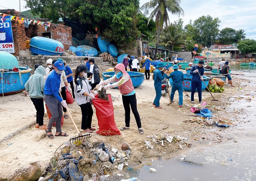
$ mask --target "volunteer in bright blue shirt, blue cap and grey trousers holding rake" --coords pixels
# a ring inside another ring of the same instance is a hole
[[[56,134],[55,136],[64,136],[67,137],[67,133],[61,131],[61,118],[62,118],[62,106],[67,108],[67,103],[59,96],[60,89],[60,77],[65,70],[64,64],[61,61],[56,61],[54,63],[54,71],[50,73],[45,82],[45,96],[44,100],[47,107],[52,114],[52,117],[49,120],[48,126],[45,130],[46,135],[49,138],[54,138],[52,135],[52,126],[55,122],[56,124]],[[61,106],[62,105],[62,106]]]

